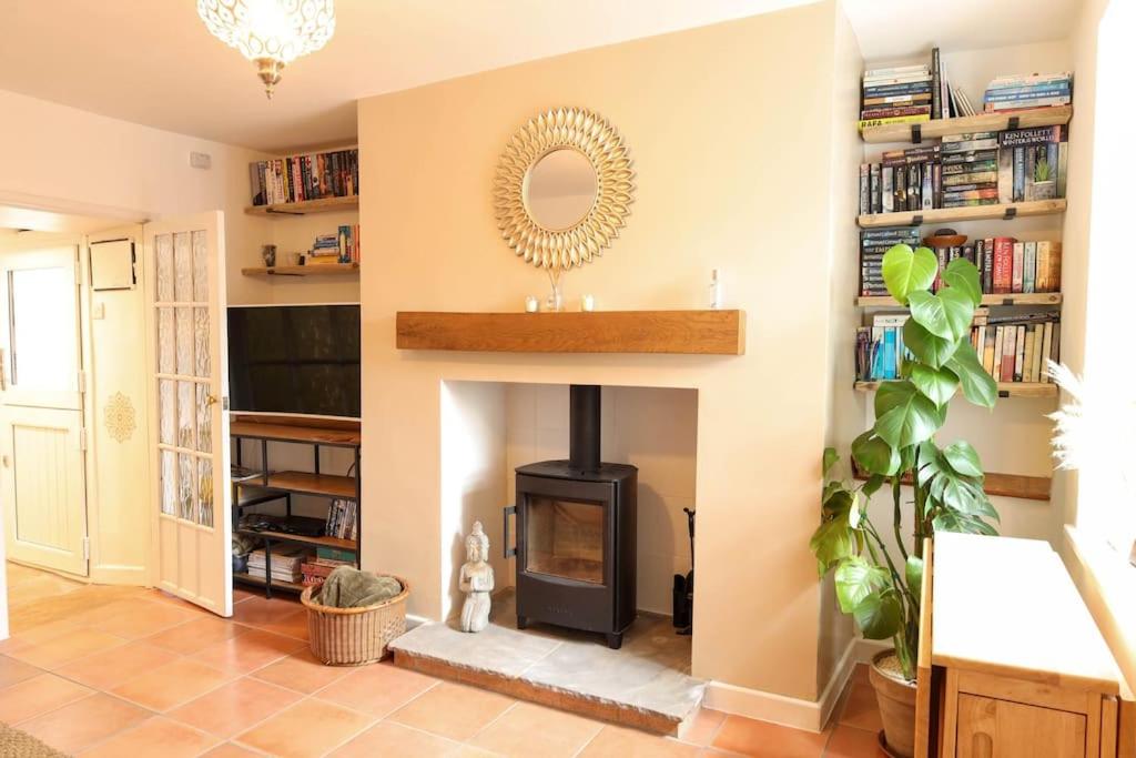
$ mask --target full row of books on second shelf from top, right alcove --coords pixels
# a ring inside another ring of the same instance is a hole
[[[1045,126],[888,150],[879,163],[860,165],[860,214],[1063,198],[1068,147],[1066,126]]]

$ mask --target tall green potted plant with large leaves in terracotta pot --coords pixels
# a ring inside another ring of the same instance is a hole
[[[857,485],[832,478],[838,456],[825,450],[820,526],[809,547],[820,575],[834,572],[841,610],[852,615],[863,636],[894,644],[875,657],[870,678],[888,749],[911,756],[924,539],[936,530],[996,534],[991,522],[997,520],[983,489],[978,453],[963,441],[941,448],[935,434],[957,393],[993,408],[997,385],[970,344],[982,302],[974,264],[951,261],[932,293],[935,253],[899,244],[884,256],[883,273],[888,292],[911,311],[903,326],[910,355],[901,378],[876,392],[871,428],[852,442],[852,458],[867,480]],[[893,506],[893,545],[868,515],[869,499],[885,488]]]

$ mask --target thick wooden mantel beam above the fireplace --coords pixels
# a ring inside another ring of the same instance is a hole
[[[395,344],[400,350],[741,356],[745,353],[745,311],[399,311]]]

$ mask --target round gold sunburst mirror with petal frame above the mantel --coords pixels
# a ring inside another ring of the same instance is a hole
[[[518,256],[561,272],[602,255],[624,226],[635,190],[619,133],[584,108],[544,111],[501,155],[493,205],[501,235]]]

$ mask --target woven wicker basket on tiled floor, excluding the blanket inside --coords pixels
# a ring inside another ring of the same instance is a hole
[[[311,599],[319,588],[306,589],[300,602],[308,609],[312,655],[328,666],[362,666],[382,660],[387,643],[407,631],[410,585],[401,576],[394,578],[402,585],[402,592],[364,608],[321,606]]]

